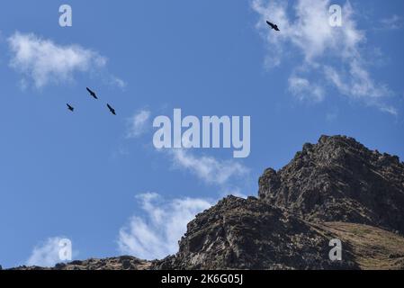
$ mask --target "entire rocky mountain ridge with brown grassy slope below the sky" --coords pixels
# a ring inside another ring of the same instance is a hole
[[[399,157],[352,138],[322,136],[279,171],[266,169],[258,196],[229,196],[197,215],[174,256],[90,259],[53,269],[404,269]],[[342,261],[329,260],[333,238],[342,242]]]

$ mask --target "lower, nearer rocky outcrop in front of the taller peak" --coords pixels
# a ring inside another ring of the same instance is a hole
[[[353,253],[333,263],[332,237],[256,198],[229,196],[188,224],[180,251],[160,269],[352,269]]]

